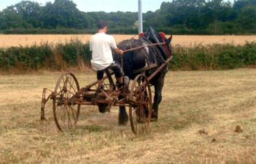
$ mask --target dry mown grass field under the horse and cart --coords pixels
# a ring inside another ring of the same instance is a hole
[[[144,136],[119,127],[117,109],[94,107],[60,134],[51,102],[40,130],[42,87],[59,74],[0,77],[0,163],[256,163],[256,69],[168,73],[160,120]],[[76,75],[82,86],[95,78]]]

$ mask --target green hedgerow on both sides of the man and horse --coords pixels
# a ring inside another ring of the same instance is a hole
[[[171,70],[221,70],[256,66],[256,44],[244,46],[214,44],[196,47],[173,47]],[[41,44],[0,48],[1,71],[59,71],[89,64],[89,45],[78,40],[66,44]]]

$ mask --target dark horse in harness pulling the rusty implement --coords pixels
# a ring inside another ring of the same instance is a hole
[[[128,51],[122,56],[113,53],[114,62],[121,64],[123,74],[131,80],[134,80],[140,73],[144,73],[148,77],[159,66],[164,64],[167,58],[172,56],[171,39],[172,37],[167,39],[164,33],[157,33],[150,27],[146,33],[139,35],[139,39],[127,39],[117,45],[123,51],[138,46],[144,46],[143,48]],[[151,46],[151,44],[157,43],[164,44]],[[162,88],[167,71],[168,66],[165,66],[162,71],[150,80],[150,84],[155,88],[152,115],[154,120],[158,118],[158,107],[162,101]],[[126,113],[126,107],[119,107],[119,125],[126,125],[127,122],[128,114]]]

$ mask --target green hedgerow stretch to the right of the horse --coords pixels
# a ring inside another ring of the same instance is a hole
[[[256,44],[244,46],[214,44],[173,48],[173,60],[169,66],[175,70],[237,69],[256,65]]]

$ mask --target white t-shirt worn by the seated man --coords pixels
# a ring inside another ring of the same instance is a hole
[[[101,71],[113,62],[111,48],[117,48],[114,37],[105,33],[96,33],[89,39],[89,50],[92,51],[92,68]]]

